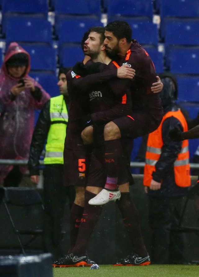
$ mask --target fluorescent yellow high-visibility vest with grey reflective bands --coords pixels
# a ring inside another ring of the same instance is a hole
[[[68,122],[68,112],[63,95],[50,99],[50,120],[44,164],[63,164],[63,149]]]

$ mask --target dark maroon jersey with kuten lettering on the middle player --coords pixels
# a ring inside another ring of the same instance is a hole
[[[92,66],[90,63],[88,66]],[[119,66],[111,61],[108,65],[101,63],[99,70],[114,72]],[[90,79],[87,86],[87,80]],[[85,82],[86,81],[86,82]],[[88,95],[92,120],[98,118],[98,122],[107,123],[117,117],[127,115],[131,112],[131,92],[129,80],[112,77],[111,80],[98,80],[94,82],[93,75],[87,77],[78,76],[73,81],[73,87],[79,94]],[[101,113],[102,112],[102,113]]]

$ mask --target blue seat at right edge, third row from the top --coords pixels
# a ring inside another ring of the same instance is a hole
[[[172,73],[199,74],[199,47],[174,47],[166,56]]]

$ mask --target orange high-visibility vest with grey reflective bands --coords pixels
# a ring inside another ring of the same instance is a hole
[[[181,110],[169,111],[163,116],[162,122],[158,129],[149,134],[146,149],[146,161],[144,167],[144,185],[150,186],[152,180],[152,173],[155,171],[155,164],[160,158],[162,152],[162,124],[168,117],[176,117],[183,126],[183,131],[188,130],[187,121],[185,120]],[[189,143],[188,140],[183,140],[182,149],[174,162],[174,176],[175,183],[180,187],[187,187],[191,185],[190,165],[189,165]]]

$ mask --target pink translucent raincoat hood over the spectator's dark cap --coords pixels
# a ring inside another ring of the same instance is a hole
[[[4,74],[6,76],[8,76],[9,78],[13,79],[13,80],[19,80],[20,78],[15,78],[13,76],[10,76],[7,72],[7,67],[6,67],[6,62],[7,60],[9,60],[13,55],[15,54],[19,54],[19,53],[25,53],[28,56],[28,66],[26,67],[25,70],[25,74],[23,77],[25,77],[25,75],[27,75],[30,71],[30,54],[28,52],[25,51],[25,49],[23,49],[18,43],[16,42],[12,42],[9,46],[8,49],[5,53],[5,58],[2,64],[2,70],[4,72]]]

